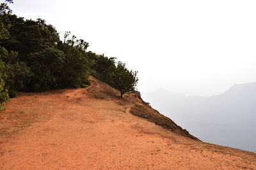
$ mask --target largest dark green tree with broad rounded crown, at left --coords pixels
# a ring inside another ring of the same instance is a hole
[[[2,45],[9,52],[19,52],[19,62],[26,64],[32,73],[19,90],[42,92],[59,88],[65,56],[58,49],[60,37],[56,29],[45,20],[24,20],[16,15],[8,15],[4,22],[12,27],[10,38]]]

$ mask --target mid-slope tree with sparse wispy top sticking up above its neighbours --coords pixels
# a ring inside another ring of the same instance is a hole
[[[76,39],[74,35],[70,38],[70,32],[65,32],[64,43],[59,43],[58,46],[65,54],[60,76],[61,88],[87,87],[90,85],[86,53],[89,44],[83,39]]]

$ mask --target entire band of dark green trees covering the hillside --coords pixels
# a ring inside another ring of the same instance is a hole
[[[64,41],[45,20],[26,20],[0,6],[0,103],[22,92],[87,87],[88,76],[116,87],[121,96],[133,90],[137,72],[115,58],[86,52],[89,44],[66,32]],[[1,105],[2,106],[2,105]]]

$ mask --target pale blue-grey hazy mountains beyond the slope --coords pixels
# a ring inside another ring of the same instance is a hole
[[[212,97],[161,89],[142,98],[202,141],[256,152],[256,83],[237,84]]]

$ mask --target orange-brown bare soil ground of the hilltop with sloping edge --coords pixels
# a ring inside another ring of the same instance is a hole
[[[198,141],[135,94],[118,95],[92,78],[13,98],[0,112],[0,169],[256,169],[256,153]]]

